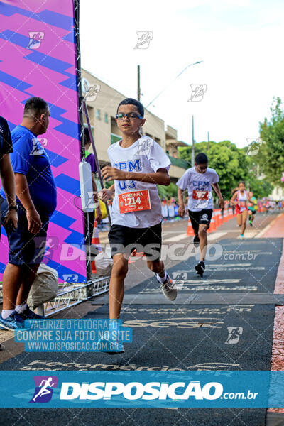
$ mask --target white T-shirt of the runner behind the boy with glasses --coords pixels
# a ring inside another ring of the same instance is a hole
[[[205,173],[197,173],[195,167],[188,169],[178,180],[181,190],[188,191],[188,209],[200,212],[203,209],[213,209],[212,183],[219,182],[216,170],[207,168]]]

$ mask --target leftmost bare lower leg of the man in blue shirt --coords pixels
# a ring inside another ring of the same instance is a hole
[[[15,309],[18,290],[23,279],[23,266],[8,263],[3,274],[3,309]]]

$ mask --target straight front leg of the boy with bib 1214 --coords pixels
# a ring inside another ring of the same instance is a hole
[[[114,265],[111,269],[109,282],[109,318],[119,318],[122,300],[124,299],[124,279],[128,271],[128,259],[123,253],[114,255]]]

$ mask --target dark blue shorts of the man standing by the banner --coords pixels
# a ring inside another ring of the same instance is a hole
[[[4,217],[8,209],[6,200],[1,204],[1,217]],[[28,231],[26,210],[18,206],[18,227],[14,231],[4,226],[9,241],[9,263],[17,266],[37,265],[43,260],[45,254],[46,232],[48,231],[49,217],[40,214],[43,227],[38,234]]]

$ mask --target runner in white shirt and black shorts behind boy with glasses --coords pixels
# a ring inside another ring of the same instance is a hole
[[[205,269],[205,256],[207,250],[207,229],[209,229],[213,212],[212,190],[219,198],[219,207],[224,209],[224,200],[219,188],[219,176],[217,172],[208,168],[207,155],[200,153],[195,157],[195,167],[192,167],[178,180],[178,201],[180,207],[178,214],[183,217],[185,214],[185,204],[182,193],[188,191],[188,214],[192,224],[195,237],[195,246],[200,244],[200,261],[195,266],[196,273],[203,276]]]

